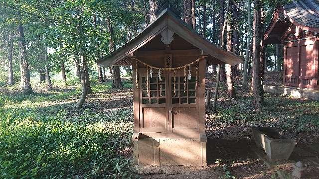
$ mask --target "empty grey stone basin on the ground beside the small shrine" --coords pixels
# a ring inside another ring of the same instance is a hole
[[[252,127],[256,145],[265,150],[271,160],[288,160],[296,140],[282,135],[274,127]]]

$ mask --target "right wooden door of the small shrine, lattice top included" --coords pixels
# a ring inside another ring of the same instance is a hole
[[[172,133],[188,136],[187,133],[199,132],[198,115],[198,91],[196,87],[196,68],[191,69],[191,79],[188,80],[188,69],[186,70],[186,81],[184,70],[169,73],[169,121]],[[175,81],[175,83],[174,83]],[[175,88],[174,88],[175,84]],[[185,86],[186,84],[186,86]]]

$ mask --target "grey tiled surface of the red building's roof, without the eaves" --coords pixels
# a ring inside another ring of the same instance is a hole
[[[319,28],[319,0],[293,0],[284,10],[293,23]]]

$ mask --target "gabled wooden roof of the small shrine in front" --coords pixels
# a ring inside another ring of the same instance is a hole
[[[211,56],[209,59],[217,59],[222,63],[237,65],[241,59],[234,54],[210,43],[207,39],[198,34],[188,24],[182,21],[170,8],[164,9],[160,15],[149,26],[147,26],[134,39],[130,40],[121,48],[111,54],[97,60],[101,66],[110,65],[130,65],[130,57],[135,51],[154,39],[163,30],[169,29],[190,44],[202,50],[206,55]]]

